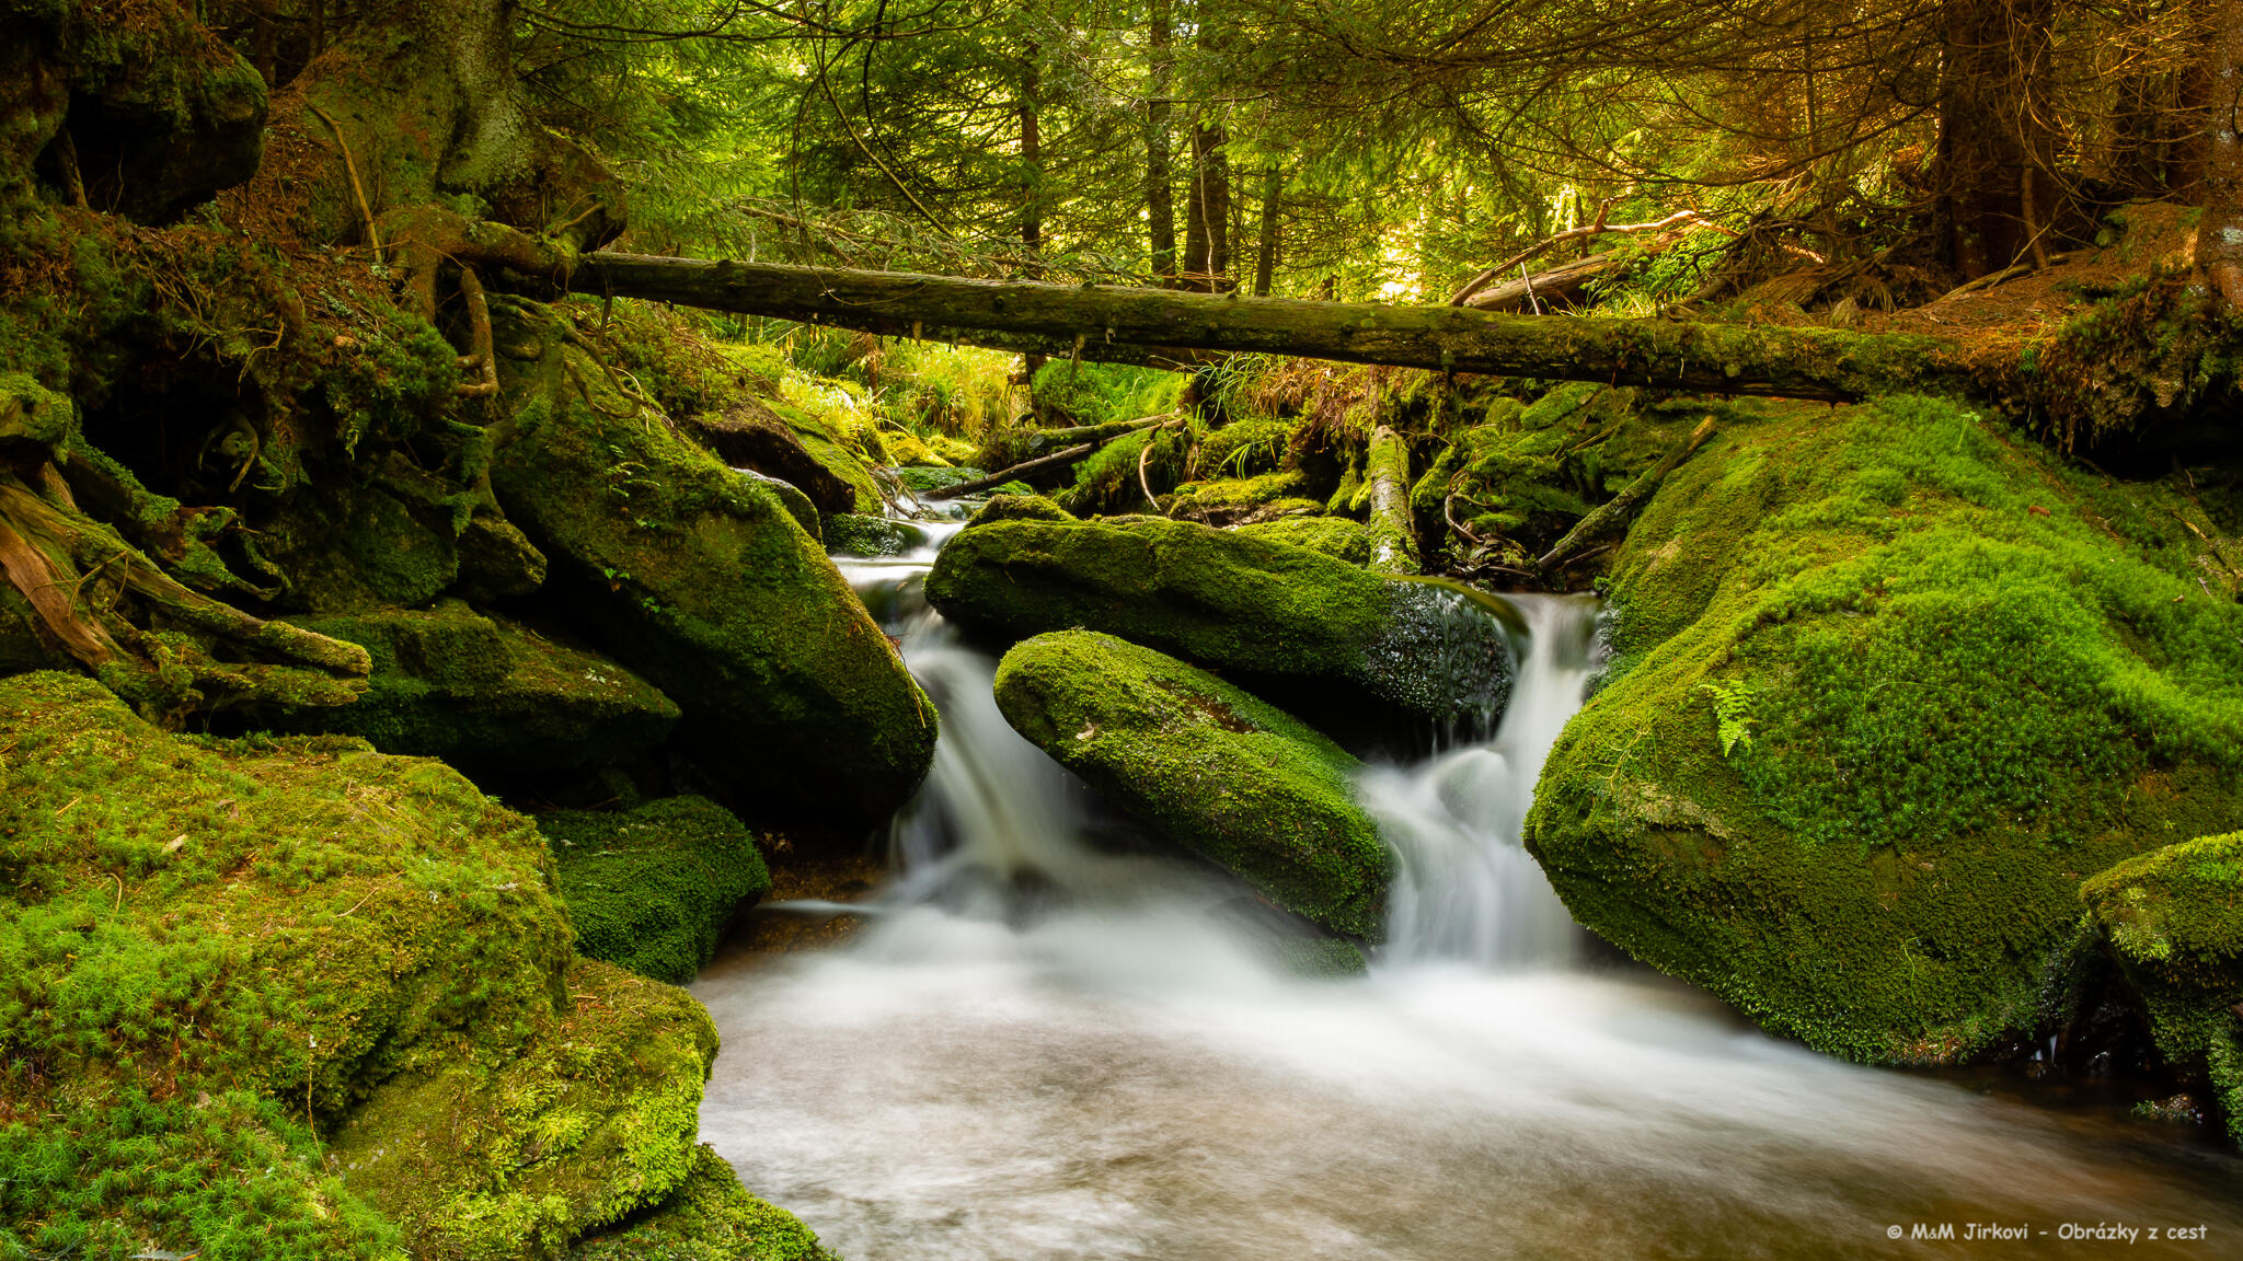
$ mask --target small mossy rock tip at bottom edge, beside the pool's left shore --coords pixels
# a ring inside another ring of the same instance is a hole
[[[693,1171],[664,1205],[612,1234],[594,1234],[570,1261],[837,1261],[787,1209],[740,1187],[713,1147],[695,1149]]]

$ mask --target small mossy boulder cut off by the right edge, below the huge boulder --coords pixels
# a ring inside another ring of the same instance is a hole
[[[2079,886],[2167,1066],[2243,1144],[2243,832],[2131,857]]]

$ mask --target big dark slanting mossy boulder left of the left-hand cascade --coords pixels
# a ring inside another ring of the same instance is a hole
[[[509,341],[552,332],[505,323]],[[550,586],[565,574],[572,622],[677,698],[677,738],[758,821],[884,821],[926,774],[935,711],[848,579],[776,494],[628,417],[590,361],[576,375],[606,411],[579,406],[563,355],[583,352],[543,346],[507,361],[520,411],[491,487],[552,556]]]

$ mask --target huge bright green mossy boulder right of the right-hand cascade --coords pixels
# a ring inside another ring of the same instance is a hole
[[[1819,1050],[2034,1037],[2079,882],[2243,823],[2216,534],[1951,404],[1736,411],[1615,556],[1527,848],[1577,920]]]

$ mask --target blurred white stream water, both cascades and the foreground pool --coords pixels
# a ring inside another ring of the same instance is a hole
[[[2243,1162],[2185,1133],[1839,1064],[1584,963],[1519,848],[1593,669],[1584,601],[1516,601],[1532,633],[1489,740],[1366,774],[1402,857],[1395,940],[1370,976],[1312,981],[1227,911],[1236,886],[1108,844],[1088,792],[998,716],[994,662],[911,608],[931,554],[850,565],[890,588],[942,709],[895,886],[846,949],[720,958],[695,985],[724,1039],[702,1138],[843,1257],[2243,1248]],[[2140,1234],[2066,1239],[2113,1225]],[[2162,1239],[2198,1225],[2203,1243]]]

